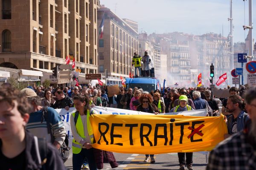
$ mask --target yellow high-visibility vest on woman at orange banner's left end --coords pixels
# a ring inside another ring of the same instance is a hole
[[[72,113],[72,116],[75,117],[75,114],[76,113]],[[90,124],[89,117],[90,117],[90,111],[87,110],[87,130],[88,130],[88,134],[90,136],[90,140],[93,143],[93,139],[94,139],[93,128],[92,128],[92,125]],[[78,118],[77,118],[77,122],[76,122],[76,130],[77,130],[77,133],[79,134],[79,136],[81,136],[82,138],[85,139],[84,126],[83,126],[80,114],[78,114]],[[82,145],[79,142],[77,142],[75,139],[73,139],[73,141],[72,141],[72,151],[73,151],[73,153],[78,154],[78,153],[81,152]]]

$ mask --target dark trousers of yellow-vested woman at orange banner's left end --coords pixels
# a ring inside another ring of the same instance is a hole
[[[87,159],[90,170],[98,170],[96,162],[94,159],[93,148],[85,149],[82,148],[81,152],[78,154],[73,153],[73,170],[81,170],[81,166],[84,163],[84,160]]]

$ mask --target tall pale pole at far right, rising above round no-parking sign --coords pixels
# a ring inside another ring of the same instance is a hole
[[[253,56],[253,1],[249,0],[249,56]],[[252,58],[253,60],[253,58]]]

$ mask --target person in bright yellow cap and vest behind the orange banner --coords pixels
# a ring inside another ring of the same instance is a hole
[[[179,105],[172,108],[170,112],[179,112],[179,111],[191,111],[193,108],[188,105],[188,97],[186,95],[180,95],[179,97]],[[186,153],[178,153],[179,163],[180,163],[180,170],[185,170],[185,154],[186,154],[186,164],[189,170],[192,169],[193,163],[193,153],[186,152]]]

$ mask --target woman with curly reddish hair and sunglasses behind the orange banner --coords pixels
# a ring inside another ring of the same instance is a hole
[[[157,106],[155,106],[152,103],[153,99],[150,94],[140,95],[139,102],[140,102],[140,105],[137,107],[137,111],[146,112],[146,113],[154,113],[154,114],[160,113],[157,109]],[[145,156],[146,157],[144,159],[144,162],[148,162],[149,155],[146,154]],[[151,164],[155,163],[154,154],[150,154],[150,163]]]

